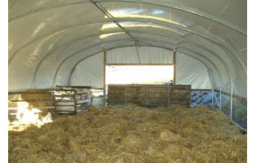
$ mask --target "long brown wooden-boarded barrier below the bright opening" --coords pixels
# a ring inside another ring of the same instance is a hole
[[[149,86],[149,87],[148,87]],[[189,85],[109,85],[108,104],[136,103],[139,105],[190,105]],[[113,91],[114,90],[114,91]],[[169,92],[170,91],[170,92]]]

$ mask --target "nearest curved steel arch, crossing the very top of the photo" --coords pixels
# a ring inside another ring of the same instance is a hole
[[[32,15],[32,14],[40,12],[40,11],[46,11],[46,10],[49,10],[49,9],[52,9],[52,8],[56,8],[56,7],[60,7],[60,6],[69,6],[69,5],[76,5],[76,4],[88,3],[88,2],[90,2],[90,1],[65,2],[65,3],[62,3],[62,4],[53,5],[53,6],[46,6],[46,7],[37,9],[35,11],[28,11],[27,13],[25,13],[23,15],[16,16],[13,19],[9,19],[8,22],[11,23],[11,22],[13,22],[16,19],[20,19],[20,18],[23,18],[23,17],[28,16],[28,15]],[[229,24],[228,22],[225,22],[225,21],[223,21],[221,19],[216,19],[214,16],[206,15],[205,13],[198,12],[198,11],[195,11],[195,10],[191,10],[191,9],[189,9],[187,7],[176,6],[176,5],[171,5],[171,4],[167,5],[167,4],[164,4],[164,3],[161,3],[161,2],[148,2],[148,1],[139,1],[139,0],[122,0],[122,1],[121,0],[105,0],[105,1],[104,0],[96,0],[96,1],[93,1],[93,2],[140,2],[140,3],[155,5],[155,6],[170,7],[170,8],[179,10],[179,11],[188,12],[188,13],[193,14],[193,15],[198,15],[198,16],[201,16],[203,18],[210,19],[211,21],[214,21],[216,23],[222,24],[222,25],[224,25],[224,26],[226,26],[228,28],[232,28],[232,30],[235,30],[236,32],[241,32],[243,35],[247,36],[247,32],[245,32],[241,28],[238,28],[238,27],[236,27],[236,26],[234,26],[232,24]]]

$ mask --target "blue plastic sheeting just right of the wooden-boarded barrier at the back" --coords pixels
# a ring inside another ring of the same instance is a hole
[[[222,94],[221,103],[223,104],[227,101],[228,96]],[[213,101],[213,103],[212,103]],[[212,105],[213,108],[219,108],[220,103],[220,93],[219,92],[211,92],[211,91],[193,91],[191,93],[191,108],[197,107],[197,105]]]

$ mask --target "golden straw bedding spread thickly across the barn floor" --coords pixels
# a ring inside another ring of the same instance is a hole
[[[246,162],[246,135],[205,106],[90,108],[9,132],[9,162]]]

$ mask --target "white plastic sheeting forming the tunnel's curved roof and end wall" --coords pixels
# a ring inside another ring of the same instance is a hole
[[[137,45],[145,63],[168,62],[176,49],[177,84],[247,97],[246,7],[244,0],[9,0],[9,91],[102,87],[102,52],[138,62]]]

